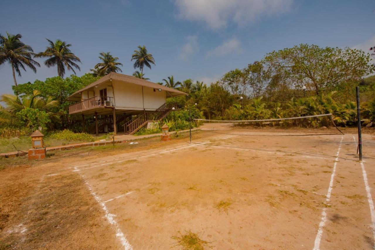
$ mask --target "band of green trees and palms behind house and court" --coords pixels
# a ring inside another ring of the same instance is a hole
[[[73,72],[74,67],[80,69],[74,63],[80,60],[70,51],[70,44],[48,40],[46,51],[34,54],[20,39],[19,34],[0,35],[0,64],[9,62],[19,73],[19,69],[25,69],[24,65],[33,70],[39,66],[32,57],[46,57],[45,65],[57,66],[58,76],[34,83],[17,85],[15,82],[12,87],[15,95],[0,97],[0,101],[6,103],[5,107],[0,106],[1,127],[27,126],[33,130],[42,124],[47,129],[61,129],[70,120],[68,106],[71,102],[66,102],[66,97],[101,76],[121,72],[119,59],[110,52],[101,52],[101,62],[92,73],[63,78],[65,68]],[[16,52],[20,55],[13,57]],[[375,70],[370,56],[357,49],[301,44],[272,51],[243,69],[230,70],[216,82],[177,81],[171,75],[157,83],[188,93],[188,96],[168,101],[197,109],[207,119],[257,120],[334,113],[336,124],[343,126],[356,119],[353,111],[355,87],[359,85],[365,124],[374,126],[375,81],[374,77],[364,78]],[[143,69],[144,66],[151,69],[151,64],[155,64],[152,54],[145,46],[138,46],[131,60],[134,68],[140,70],[133,76],[147,80]],[[308,125],[319,126],[312,121]]]

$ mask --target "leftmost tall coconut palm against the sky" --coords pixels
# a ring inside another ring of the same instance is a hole
[[[34,55],[33,49],[21,42],[21,34],[12,35],[6,33],[6,36],[0,34],[0,65],[6,61],[12,67],[14,85],[17,86],[15,72],[21,76],[21,70],[25,69],[25,65],[36,73],[36,67],[40,67],[37,61],[32,59]]]

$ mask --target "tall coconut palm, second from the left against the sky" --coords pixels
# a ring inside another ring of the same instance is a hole
[[[45,57],[48,58],[44,61],[44,65],[47,67],[52,67],[57,65],[57,74],[61,78],[64,78],[65,67],[68,70],[72,70],[75,73],[73,67],[81,71],[80,66],[75,62],[81,62],[75,54],[69,49],[71,44],[67,44],[60,39],[57,39],[55,42],[48,40],[49,46],[44,52],[36,54],[34,57]]]

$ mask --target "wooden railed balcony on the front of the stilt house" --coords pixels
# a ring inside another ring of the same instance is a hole
[[[104,111],[107,107],[113,106],[113,97],[94,96],[81,102],[69,105],[69,114],[92,114]]]

